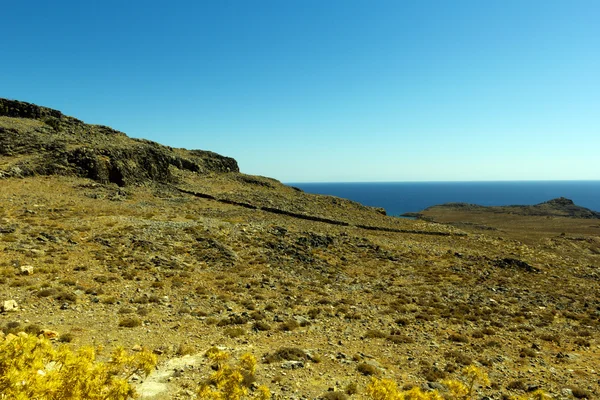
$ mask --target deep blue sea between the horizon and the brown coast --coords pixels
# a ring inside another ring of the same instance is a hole
[[[288,183],[308,193],[328,194],[383,207],[388,215],[436,204],[532,205],[566,197],[600,211],[600,181]]]

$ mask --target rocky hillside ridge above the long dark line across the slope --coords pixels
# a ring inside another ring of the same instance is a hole
[[[380,208],[307,194],[272,178],[242,174],[231,157],[130,138],[58,110],[2,98],[0,156],[0,178],[58,175],[123,188],[159,186],[161,190],[339,226],[408,234],[464,234],[435,226],[407,228],[401,221],[387,218]],[[340,218],[345,214],[350,217]]]

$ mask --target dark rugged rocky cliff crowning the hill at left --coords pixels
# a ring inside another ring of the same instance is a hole
[[[119,186],[174,182],[178,170],[239,171],[230,157],[129,138],[57,110],[2,98],[0,156],[0,177],[77,175]]]

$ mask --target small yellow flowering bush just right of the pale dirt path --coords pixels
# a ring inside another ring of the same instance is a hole
[[[206,353],[213,362],[215,372],[200,386],[198,397],[208,400],[240,400],[248,396],[248,385],[254,381],[256,358],[244,354],[236,365],[228,365],[229,354],[217,349]],[[268,400],[271,392],[266,386],[259,386],[252,398]]]

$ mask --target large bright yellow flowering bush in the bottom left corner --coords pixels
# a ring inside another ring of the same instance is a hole
[[[0,398],[125,400],[135,395],[128,379],[148,375],[156,362],[149,351],[129,355],[122,348],[99,362],[92,347],[56,349],[45,338],[21,332],[0,342]]]

